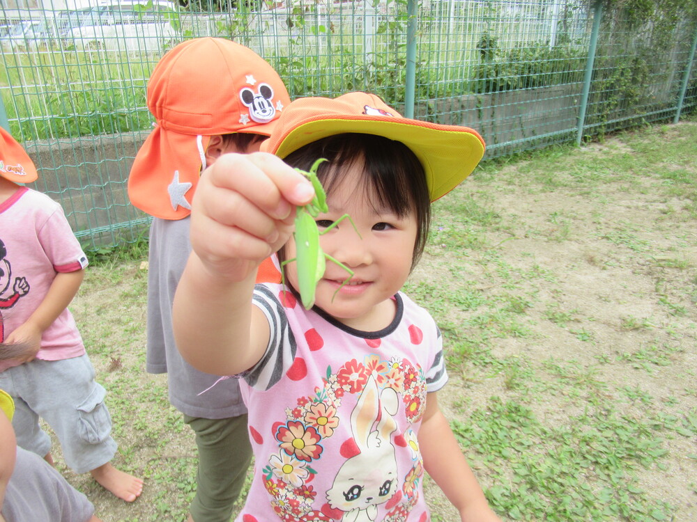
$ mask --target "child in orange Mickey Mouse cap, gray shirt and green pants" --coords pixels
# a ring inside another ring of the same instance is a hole
[[[171,49],[155,66],[147,102],[155,129],[128,179],[131,202],[154,218],[146,370],[167,372],[169,400],[196,434],[197,492],[190,520],[227,522],[252,457],[247,409],[236,379],[200,372],[183,360],[172,333],[171,303],[191,251],[189,214],[201,171],[226,152],[259,150],[290,99],[275,70],[251,49],[222,38],[196,38]],[[262,277],[280,279],[273,263],[263,268]]]

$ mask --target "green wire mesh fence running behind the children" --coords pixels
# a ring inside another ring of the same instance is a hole
[[[0,125],[24,142],[40,168],[35,187],[62,203],[88,249],[146,229],[125,189],[152,125],[145,86],[188,38],[251,47],[291,97],[368,90],[406,116],[473,127],[489,158],[697,107],[690,2],[229,0],[223,12],[194,12],[167,0],[92,1],[0,9]]]

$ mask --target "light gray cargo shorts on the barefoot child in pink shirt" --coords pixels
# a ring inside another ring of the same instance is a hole
[[[94,380],[87,355],[63,361],[40,361],[0,372],[0,388],[15,400],[12,425],[17,445],[44,457],[51,438],[43,418],[58,436],[66,464],[86,473],[111,461],[116,442],[109,435],[112,418],[104,404],[106,390]]]

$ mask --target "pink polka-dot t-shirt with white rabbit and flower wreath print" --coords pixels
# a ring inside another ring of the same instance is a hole
[[[418,432],[447,381],[434,320],[399,293],[390,326],[357,331],[281,292],[254,290],[270,343],[240,376],[255,464],[236,521],[430,520]]]

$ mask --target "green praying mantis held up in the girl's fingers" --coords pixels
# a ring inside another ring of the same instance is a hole
[[[337,221],[334,221],[334,223],[321,232],[319,231],[319,228],[317,228],[315,218],[320,214],[320,212],[328,212],[329,210],[327,206],[327,194],[325,193],[321,182],[317,178],[317,168],[322,161],[327,160],[324,158],[318,159],[314,162],[314,164],[312,164],[312,168],[310,168],[309,172],[296,168],[296,171],[307,177],[307,179],[312,182],[312,187],[314,187],[314,198],[312,198],[312,201],[310,201],[307,205],[297,208],[295,221],[296,230],[293,232],[293,237],[296,239],[296,257],[282,262],[282,268],[290,262],[296,262],[296,269],[298,271],[298,286],[300,287],[298,288],[298,291],[300,292],[300,299],[302,301],[302,306],[305,307],[305,310],[309,310],[312,308],[312,306],[314,306],[314,292],[316,290],[317,283],[319,283],[319,280],[324,275],[324,270],[326,267],[325,260],[334,262],[339,267],[346,270],[346,273],[348,274],[346,280],[344,280],[342,285],[337,288],[336,292],[334,292],[334,296],[336,296],[337,292],[339,292],[339,290],[341,290],[353,277],[353,270],[346,267],[346,265],[342,262],[332,258],[331,255],[322,250],[322,247],[319,246],[319,237],[332,230],[332,228],[344,221],[344,219],[351,221],[353,230],[355,230],[355,233],[358,234],[358,237],[360,237],[358,228],[355,227],[353,219],[351,219],[351,216],[348,214],[344,214],[337,219]],[[283,269],[281,270],[281,274],[283,283],[285,284],[286,281]]]

